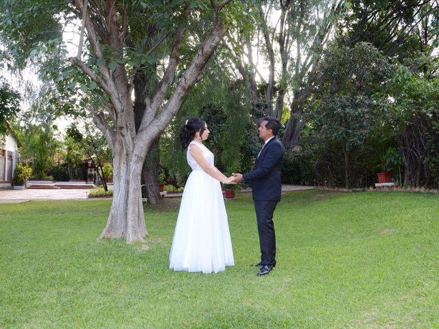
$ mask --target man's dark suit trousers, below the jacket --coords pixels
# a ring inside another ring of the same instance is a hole
[[[276,235],[274,234],[273,223],[273,213],[276,204],[277,201],[254,200],[262,265],[276,265]]]

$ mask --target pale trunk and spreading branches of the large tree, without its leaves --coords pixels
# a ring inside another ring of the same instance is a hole
[[[103,51],[105,47],[110,49],[112,56],[124,57],[123,49],[130,39],[126,10],[128,4],[123,6],[123,12],[117,12],[117,1],[91,2],[91,8],[97,9],[95,12],[99,13],[99,17],[95,19],[93,16],[92,19],[88,14],[84,25],[87,30],[86,36],[94,57],[104,62],[98,73],[82,61],[81,51],[78,51],[78,56],[69,58],[69,62],[78,66],[108,95],[108,99],[102,97],[102,103],[99,103],[98,108],[88,109],[88,112],[93,113],[93,121],[104,134],[114,156],[113,199],[101,239],[124,238],[128,243],[132,243],[143,241],[147,235],[141,198],[141,173],[145,157],[154,140],[174,118],[189,90],[202,79],[204,67],[227,30],[227,26],[220,20],[220,11],[230,0],[223,0],[221,3],[210,2],[213,10],[211,32],[185,69],[179,71],[176,77],[180,46],[186,40],[187,25],[184,22],[176,27],[174,36],[168,38],[171,49],[167,67],[161,72],[160,82],[153,88],[154,92],[141,95],[145,109],[137,119],[136,116],[140,112],[136,114],[137,111],[133,109],[132,90],[135,84],[130,82],[131,72],[127,71],[125,62],[116,61],[108,64],[104,60]],[[73,3],[79,12],[88,8],[82,0],[75,0]],[[104,5],[104,8],[99,5]],[[190,12],[189,8],[180,13],[182,21]],[[141,48],[138,49],[139,55],[145,55],[145,49]],[[150,51],[154,51],[154,47]],[[172,90],[171,86],[174,86]]]

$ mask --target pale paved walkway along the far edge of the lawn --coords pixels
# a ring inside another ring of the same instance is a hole
[[[300,186],[300,185],[282,185],[282,191],[304,191],[313,189],[314,186]],[[246,188],[241,192],[250,192],[250,188]],[[26,202],[30,200],[84,200],[88,198],[89,190],[80,188],[72,189],[56,189],[56,190],[40,190],[40,189],[25,189],[25,190],[0,190],[0,203],[14,203]],[[173,193],[169,197],[178,197],[182,193]]]

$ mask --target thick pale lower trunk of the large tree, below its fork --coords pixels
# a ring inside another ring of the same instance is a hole
[[[143,158],[133,147],[123,152],[119,143],[113,160],[114,191],[106,228],[99,239],[126,239],[128,243],[143,241],[147,236],[141,198]]]

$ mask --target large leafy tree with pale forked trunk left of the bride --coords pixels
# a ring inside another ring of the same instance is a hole
[[[115,191],[101,238],[124,238],[131,243],[147,235],[141,200],[145,156],[202,78],[230,17],[239,12],[239,8],[224,12],[229,2],[21,0],[5,1],[1,8],[1,34],[8,47],[19,49],[23,56],[26,49],[32,55],[45,51],[43,59],[56,55],[43,74],[54,77],[58,88],[63,80],[64,86],[65,81],[73,88],[80,84],[80,106],[93,116],[112,148]],[[81,24],[78,53],[64,59],[60,39],[47,38],[44,31],[55,31],[56,36],[57,24],[72,19]],[[204,30],[195,33],[199,22]],[[29,49],[29,43],[38,40],[44,44]],[[60,71],[66,59],[71,66]],[[145,106],[136,129],[133,80],[151,65],[158,69],[147,78],[158,83],[143,95]]]

